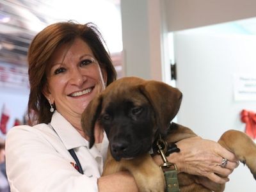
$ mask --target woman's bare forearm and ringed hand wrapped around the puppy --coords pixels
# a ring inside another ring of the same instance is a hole
[[[177,165],[178,172],[186,172],[193,175],[205,176],[216,183],[228,181],[228,175],[238,166],[237,159],[228,150],[221,147],[219,143],[193,137],[181,140],[177,143],[179,153],[170,154],[168,161]],[[226,168],[221,168],[222,158],[228,159]],[[154,161],[163,164],[161,156],[154,156]],[[218,176],[216,173],[225,176]],[[211,184],[211,181],[205,182]],[[98,179],[100,192],[104,191],[138,191],[136,182],[129,172],[118,172]]]

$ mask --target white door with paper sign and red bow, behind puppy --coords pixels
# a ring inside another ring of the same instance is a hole
[[[244,131],[239,113],[256,113],[256,102],[234,99],[234,74],[256,77],[256,37],[180,32],[173,39],[176,84],[184,94],[177,121],[211,140],[227,129]],[[256,181],[242,163],[225,191],[256,191]]]

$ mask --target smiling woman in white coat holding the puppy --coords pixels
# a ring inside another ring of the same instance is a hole
[[[28,65],[29,125],[14,127],[6,139],[12,191],[138,191],[127,172],[100,177],[108,147],[106,134],[95,127],[97,144],[89,149],[81,128],[84,108],[116,79],[97,28],[74,22],[48,26],[31,42]],[[177,145],[181,152],[168,159],[179,172],[224,183],[237,166],[236,157],[213,141],[192,138]],[[228,159],[225,168],[220,166],[223,158]],[[159,156],[155,161],[162,163]]]

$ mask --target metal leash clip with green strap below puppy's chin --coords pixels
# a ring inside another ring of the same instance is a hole
[[[179,189],[179,182],[177,177],[177,166],[175,163],[170,163],[165,153],[167,151],[168,143],[162,140],[161,137],[157,141],[157,152],[161,155],[164,163],[160,165],[161,170],[164,172],[164,178],[166,182],[166,192],[178,192]]]

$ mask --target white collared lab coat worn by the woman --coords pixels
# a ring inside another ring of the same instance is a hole
[[[54,128],[54,131],[52,127]],[[51,125],[13,127],[6,137],[6,172],[12,192],[98,191],[108,139],[104,133],[101,149],[89,149],[88,141],[57,111]],[[74,148],[83,168],[72,166],[68,149]]]

